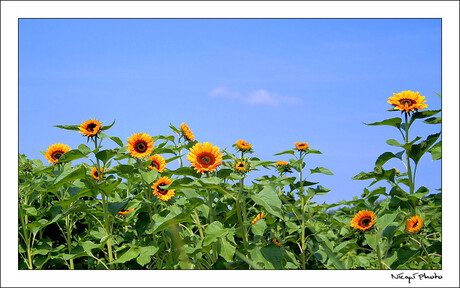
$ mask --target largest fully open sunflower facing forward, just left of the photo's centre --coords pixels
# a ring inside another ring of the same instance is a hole
[[[187,160],[198,173],[205,173],[212,172],[222,165],[222,155],[223,153],[219,153],[219,147],[213,147],[211,143],[196,143],[190,149]]]

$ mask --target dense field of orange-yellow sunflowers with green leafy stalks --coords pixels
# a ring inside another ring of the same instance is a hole
[[[83,141],[50,145],[48,165],[19,155],[18,268],[441,269],[441,189],[415,182],[423,156],[441,159],[441,133],[410,134],[415,122],[441,124],[441,110],[412,91],[388,103],[398,115],[366,125],[393,126],[400,140],[387,143],[400,152],[353,177],[373,180],[361,197],[333,204],[315,202],[330,190],[313,174],[334,176],[307,167],[321,152],[306,142],[261,160],[244,140],[231,151],[198,142],[185,123],[126,143],[109,136],[115,122],[56,125]],[[385,169],[390,160],[406,171]],[[270,173],[245,181],[257,169]]]

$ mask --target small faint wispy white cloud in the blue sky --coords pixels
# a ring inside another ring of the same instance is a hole
[[[259,89],[243,94],[239,91],[232,91],[227,87],[217,87],[209,93],[209,96],[235,99],[251,105],[277,106],[280,104],[298,104],[302,102],[301,98],[280,96],[276,93],[268,92],[265,89]]]

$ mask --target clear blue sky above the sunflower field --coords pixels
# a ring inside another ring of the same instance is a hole
[[[395,128],[363,122],[400,115],[386,110],[402,90],[441,108],[441,20],[19,22],[19,152],[44,163],[40,150],[85,141],[53,125],[116,119],[107,134],[126,143],[133,133],[171,134],[169,123],[185,122],[200,142],[232,150],[246,140],[264,160],[287,160],[273,154],[307,142],[323,154],[309,155],[306,168],[335,174],[309,178],[332,189],[316,200],[350,200],[371,182],[351,177],[399,151],[385,143],[402,141]],[[411,134],[426,138],[440,128],[420,121]],[[405,171],[397,161],[385,167]],[[425,155],[416,185],[440,188],[441,161]]]

